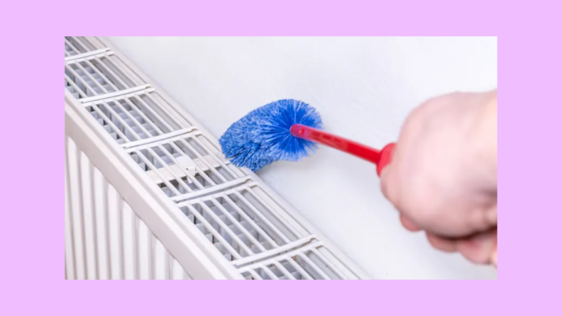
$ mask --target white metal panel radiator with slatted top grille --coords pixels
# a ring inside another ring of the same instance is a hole
[[[65,38],[67,279],[369,278],[103,38]]]

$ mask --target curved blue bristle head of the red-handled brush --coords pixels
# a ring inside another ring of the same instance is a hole
[[[291,135],[293,124],[321,128],[315,108],[302,101],[279,100],[246,114],[219,140],[222,151],[236,167],[258,171],[278,160],[298,161],[316,149],[314,142]]]

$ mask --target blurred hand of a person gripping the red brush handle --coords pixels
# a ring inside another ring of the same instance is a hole
[[[407,230],[497,267],[497,90],[447,94],[416,108],[381,187]]]

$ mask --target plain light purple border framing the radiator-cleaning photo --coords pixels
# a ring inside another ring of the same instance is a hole
[[[35,2],[3,6],[1,315],[560,312],[556,1]],[[502,35],[502,281],[63,283],[62,35],[133,34]]]

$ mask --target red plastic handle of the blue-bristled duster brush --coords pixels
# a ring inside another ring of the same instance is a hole
[[[377,165],[377,174],[379,176],[382,169],[384,169],[390,162],[390,159],[392,159],[392,151],[395,147],[394,143],[390,143],[383,147],[382,150],[378,150],[358,142],[353,142],[353,140],[346,140],[343,137],[332,135],[329,132],[324,132],[323,130],[317,130],[316,128],[301,124],[294,124],[291,126],[291,135],[304,140],[319,142],[322,145],[347,152],[348,154],[353,154],[353,156],[365,159],[368,162],[373,162],[373,164]]]

